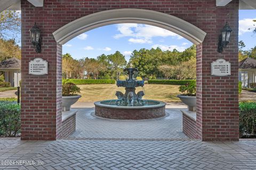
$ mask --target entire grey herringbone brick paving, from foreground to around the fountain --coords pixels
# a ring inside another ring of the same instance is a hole
[[[181,132],[181,114],[175,109],[166,110],[164,118],[125,121],[97,118],[92,109],[87,109],[77,114],[81,131],[68,138],[73,140],[0,138],[1,163],[2,160],[44,163],[0,165],[0,169],[255,169],[256,141],[188,140]],[[124,132],[126,136],[122,136]],[[83,140],[83,135],[90,140]]]

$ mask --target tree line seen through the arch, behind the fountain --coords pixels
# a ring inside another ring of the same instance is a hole
[[[196,46],[192,45],[183,52],[142,48],[134,50],[128,62],[119,51],[110,55],[101,54],[96,59],[76,60],[69,53],[62,56],[63,78],[117,80],[124,76],[123,69],[126,67],[138,68],[138,76],[145,79],[195,79]]]

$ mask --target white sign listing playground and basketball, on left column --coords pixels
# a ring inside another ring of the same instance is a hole
[[[47,75],[48,74],[48,62],[41,59],[35,58],[29,61],[29,74],[30,75]]]

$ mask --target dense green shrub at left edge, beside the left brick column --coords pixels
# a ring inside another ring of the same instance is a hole
[[[20,133],[20,105],[0,101],[0,136],[15,137]]]

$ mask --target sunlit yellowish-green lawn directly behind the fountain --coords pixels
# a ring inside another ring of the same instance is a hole
[[[81,88],[82,98],[79,102],[95,102],[98,100],[116,99],[116,91],[125,92],[124,87],[115,84],[78,85]],[[180,94],[178,85],[146,84],[144,87],[146,96],[143,99],[155,99],[164,102],[180,102],[177,95]],[[143,90],[137,87],[136,92]]]

